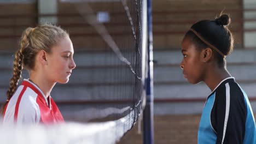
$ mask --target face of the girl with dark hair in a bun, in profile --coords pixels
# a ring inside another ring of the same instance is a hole
[[[181,46],[183,59],[180,66],[185,79],[193,84],[203,81],[205,63],[202,61],[201,50],[196,48],[190,38],[184,38]]]

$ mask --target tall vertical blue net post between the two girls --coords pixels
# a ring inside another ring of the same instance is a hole
[[[147,0],[148,32],[148,76],[146,79],[146,106],[143,112],[143,143],[154,143],[154,91],[153,91],[153,34],[152,34],[152,0]]]

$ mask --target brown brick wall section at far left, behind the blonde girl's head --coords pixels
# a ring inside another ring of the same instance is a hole
[[[21,26],[21,27],[0,27],[0,50],[16,51],[18,49],[18,40],[22,31],[28,26],[34,26],[37,23],[36,17],[24,15],[36,15],[36,3],[31,4],[0,4],[0,26]],[[7,15],[16,15],[7,17]],[[23,15],[22,17],[19,15]],[[13,37],[17,35],[17,37]]]

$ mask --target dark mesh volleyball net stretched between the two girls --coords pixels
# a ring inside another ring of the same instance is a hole
[[[55,91],[56,95],[68,94],[61,109],[67,118],[87,122],[115,120],[133,112],[136,122],[142,110],[146,70],[142,1],[67,3],[79,14],[73,23],[77,27],[61,20],[60,25],[66,26],[71,39],[77,40],[74,45],[80,47],[74,55],[77,68],[68,85],[63,85],[74,91]]]

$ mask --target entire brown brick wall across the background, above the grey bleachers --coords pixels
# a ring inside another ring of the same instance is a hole
[[[80,5],[80,4],[79,4]],[[115,13],[110,15],[110,22],[123,22],[122,25],[108,25],[106,26],[109,33],[124,33],[130,32],[130,23],[127,20],[125,10],[120,2],[94,2],[89,3],[90,7],[94,11],[109,11]],[[210,0],[153,0],[153,39],[154,49],[177,49],[180,47],[181,40],[184,33],[188,28],[196,21],[202,19],[214,19],[220,14],[222,10],[225,13],[229,13],[231,19],[231,30],[234,31],[235,47],[242,47],[242,23],[238,20],[242,19],[242,11],[232,11],[232,9],[241,9],[242,0],[222,0],[222,1],[210,1]],[[37,4],[1,4],[0,12],[2,15],[14,14],[37,14]],[[14,11],[11,9],[15,9]],[[211,10],[208,12],[193,12],[194,10]],[[169,13],[172,11],[172,13]],[[173,12],[174,11],[174,12]],[[191,11],[191,12],[182,12]],[[118,13],[117,13],[118,12]],[[59,2],[58,13],[63,14],[77,14],[77,16],[60,16],[59,24],[86,24],[86,20],[83,15],[79,14],[77,5],[72,3]],[[123,13],[123,14],[122,14]],[[131,14],[133,15],[133,14]],[[177,23],[178,21],[178,23]],[[21,32],[27,26],[34,26],[37,23],[36,17],[20,17],[20,18],[7,18],[0,19],[1,25],[24,25],[24,27],[17,28],[1,28],[0,31],[3,35],[21,35]],[[180,23],[182,22],[182,23]],[[92,33],[86,37],[72,37],[73,45],[75,49],[92,49],[92,50],[104,50],[108,48],[108,45],[103,39],[98,36],[95,28],[88,26],[62,26],[70,33]],[[238,31],[238,32],[237,32]],[[112,34],[114,40],[120,38],[120,35]],[[0,50],[14,51],[18,46],[18,38],[0,38]],[[124,37],[121,37],[124,38]],[[121,47],[121,46],[120,46]]]

